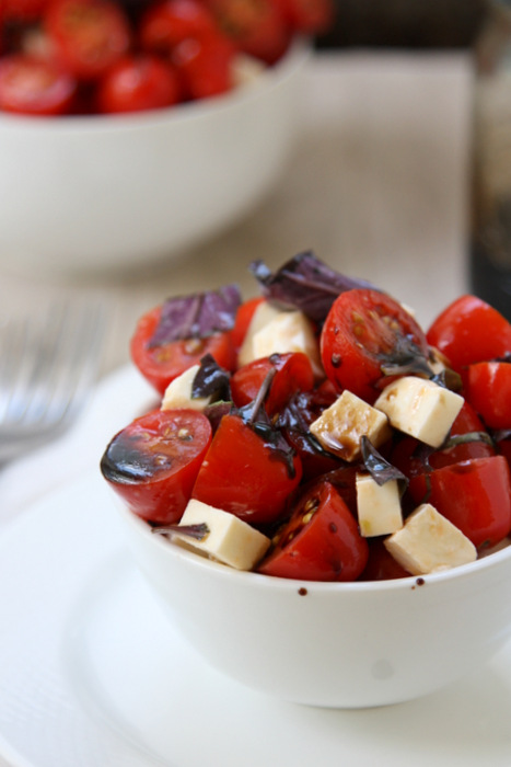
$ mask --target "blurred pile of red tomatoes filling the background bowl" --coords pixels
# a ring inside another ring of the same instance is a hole
[[[0,111],[111,114],[219,95],[332,18],[330,0],[3,0]]]

